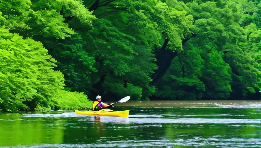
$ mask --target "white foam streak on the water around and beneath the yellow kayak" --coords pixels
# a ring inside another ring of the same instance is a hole
[[[227,114],[221,114],[227,116]],[[184,115],[193,116],[193,115]],[[196,116],[196,115],[195,115]],[[209,116],[209,115],[206,115]],[[215,115],[217,116],[217,115]],[[260,119],[206,119],[206,118],[148,118],[148,117],[161,117],[160,115],[129,115],[125,117],[112,117],[112,116],[87,116],[78,115],[74,112],[62,113],[62,114],[27,114],[23,117],[51,117],[51,118],[68,118],[74,117],[85,122],[101,122],[101,123],[217,123],[217,124],[234,124],[234,123],[261,123]],[[88,119],[88,120],[86,120]]]

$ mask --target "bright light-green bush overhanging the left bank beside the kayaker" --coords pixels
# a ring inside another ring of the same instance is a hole
[[[86,95],[62,90],[64,76],[42,43],[0,28],[0,48],[1,110],[91,108]]]

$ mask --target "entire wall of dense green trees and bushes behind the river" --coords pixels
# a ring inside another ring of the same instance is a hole
[[[260,90],[259,0],[0,0],[0,11],[3,110]]]

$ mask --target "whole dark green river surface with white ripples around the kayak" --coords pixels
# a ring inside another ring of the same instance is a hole
[[[129,101],[112,109],[130,114],[1,113],[0,147],[261,147],[261,101]]]

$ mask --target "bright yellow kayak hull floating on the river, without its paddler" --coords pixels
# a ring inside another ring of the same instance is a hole
[[[117,116],[117,117],[128,117],[130,110],[113,111],[108,108],[101,109],[98,111],[94,110],[75,110],[76,114],[91,115],[91,116]]]

